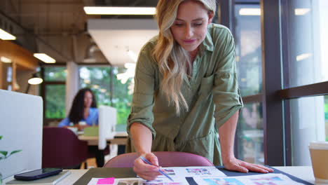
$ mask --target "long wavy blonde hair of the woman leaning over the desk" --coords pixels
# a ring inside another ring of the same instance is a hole
[[[192,64],[188,51],[184,50],[172,36],[170,27],[177,18],[179,5],[184,1],[200,2],[214,17],[217,8],[215,0],[159,0],[156,7],[156,20],[159,34],[158,42],[153,49],[153,56],[158,62],[159,71],[163,74],[160,88],[170,104],[174,104],[176,113],[189,107],[181,92],[181,85],[191,74]]]

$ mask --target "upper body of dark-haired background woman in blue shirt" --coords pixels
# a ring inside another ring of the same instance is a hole
[[[85,122],[85,125],[78,124],[79,122]],[[98,125],[98,109],[97,101],[93,95],[93,91],[90,88],[83,88],[78,90],[75,95],[69,116],[64,118],[58,125],[64,126],[76,126],[78,130],[91,125]]]

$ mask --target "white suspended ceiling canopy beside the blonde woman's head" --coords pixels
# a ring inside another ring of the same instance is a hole
[[[134,62],[128,50],[139,55],[144,43],[158,34],[158,27],[153,19],[90,19],[88,32],[113,66],[123,66]]]

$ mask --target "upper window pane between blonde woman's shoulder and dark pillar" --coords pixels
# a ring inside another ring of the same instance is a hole
[[[235,60],[242,96],[261,93],[261,20],[259,4],[235,4]]]

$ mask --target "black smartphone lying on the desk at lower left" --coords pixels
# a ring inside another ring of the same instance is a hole
[[[39,170],[15,174],[14,178],[23,181],[32,181],[43,177],[49,177],[54,174],[59,174],[60,172],[62,172],[62,168],[42,168]]]

